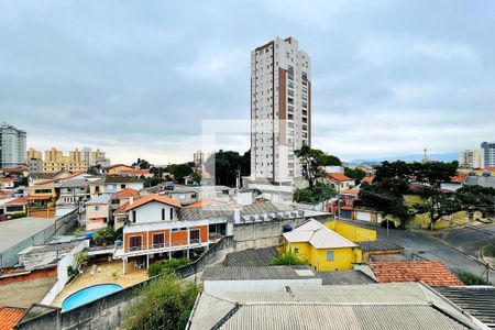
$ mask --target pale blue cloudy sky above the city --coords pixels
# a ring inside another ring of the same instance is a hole
[[[0,0],[0,121],[38,150],[190,161],[202,121],[249,120],[251,50],[294,36],[312,62],[314,147],[348,161],[479,148],[495,140],[494,12],[492,0]],[[248,134],[219,144],[250,147]]]

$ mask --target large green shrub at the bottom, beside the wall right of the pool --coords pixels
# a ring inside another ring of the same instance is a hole
[[[140,293],[123,322],[123,328],[136,329],[184,329],[193,309],[198,286],[166,274],[153,280]]]

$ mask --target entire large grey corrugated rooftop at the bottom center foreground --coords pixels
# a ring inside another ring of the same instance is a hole
[[[421,284],[200,294],[190,329],[479,329]]]

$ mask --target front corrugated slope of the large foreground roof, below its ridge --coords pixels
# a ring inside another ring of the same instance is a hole
[[[205,328],[204,328],[205,329]],[[469,329],[428,305],[243,305],[220,329]]]

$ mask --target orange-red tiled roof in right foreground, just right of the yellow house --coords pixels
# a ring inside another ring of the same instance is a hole
[[[370,266],[378,282],[424,282],[431,286],[463,285],[441,262],[397,261],[375,262]]]

